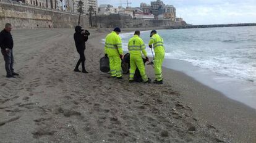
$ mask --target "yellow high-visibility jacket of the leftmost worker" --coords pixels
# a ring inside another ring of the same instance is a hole
[[[109,56],[123,54],[121,37],[114,31],[106,36],[105,54],[108,54]]]

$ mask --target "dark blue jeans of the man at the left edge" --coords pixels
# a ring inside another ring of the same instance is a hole
[[[6,75],[12,75],[14,73],[14,55],[12,54],[12,49],[9,49],[8,52],[1,49],[1,52],[6,62]]]

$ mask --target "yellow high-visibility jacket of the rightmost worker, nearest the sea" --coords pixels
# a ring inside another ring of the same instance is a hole
[[[164,52],[163,38],[161,38],[161,36],[159,36],[158,34],[155,34],[150,38],[148,45],[152,45],[152,44],[153,44],[155,53]]]

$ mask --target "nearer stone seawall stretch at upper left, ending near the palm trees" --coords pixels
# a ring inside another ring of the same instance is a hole
[[[0,27],[12,23],[14,28],[74,28],[79,15],[40,7],[0,3]],[[37,27],[38,25],[38,27]],[[82,16],[80,25],[88,27],[88,17]]]

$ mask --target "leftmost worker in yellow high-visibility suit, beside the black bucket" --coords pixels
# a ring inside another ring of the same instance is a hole
[[[122,40],[119,36],[120,28],[116,27],[106,36],[105,56],[109,57],[109,67],[111,77],[122,79],[121,59],[123,55]]]

